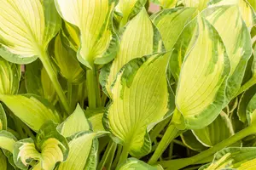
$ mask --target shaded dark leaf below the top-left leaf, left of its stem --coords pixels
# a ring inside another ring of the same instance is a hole
[[[37,94],[50,102],[55,101],[55,88],[39,59],[26,65],[25,83],[28,94]]]

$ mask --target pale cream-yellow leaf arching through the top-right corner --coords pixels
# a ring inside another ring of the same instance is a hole
[[[253,10],[253,7],[247,2],[247,0],[212,0],[210,3],[208,3],[208,5],[212,7],[236,5],[238,6],[241,17],[246,23],[247,27],[251,27],[256,24],[255,11]]]

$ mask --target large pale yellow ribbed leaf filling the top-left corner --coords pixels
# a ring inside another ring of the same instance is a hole
[[[61,27],[53,0],[2,0],[0,20],[0,43],[4,50],[22,55],[25,63],[29,62],[27,58],[34,60],[35,55],[46,50]],[[13,55],[16,56],[19,58]]]

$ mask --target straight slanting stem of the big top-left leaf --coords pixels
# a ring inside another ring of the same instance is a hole
[[[41,59],[44,65],[44,68],[49,76],[49,79],[51,80],[51,82],[55,87],[56,93],[58,94],[59,99],[61,100],[61,104],[63,105],[65,111],[67,111],[67,113],[70,113],[71,112],[70,106],[68,105],[67,98],[61,88],[61,84],[58,81],[57,74],[55,73],[52,65],[50,64],[48,54],[46,52],[41,52],[39,58]]]

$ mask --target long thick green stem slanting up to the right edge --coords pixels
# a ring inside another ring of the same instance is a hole
[[[215,154],[218,150],[222,150],[226,146],[230,146],[230,144],[234,144],[237,141],[247,137],[248,135],[251,135],[253,133],[256,133],[256,127],[249,126],[244,129],[242,129],[240,132],[234,134],[228,139],[224,139],[222,142],[214,145],[212,148],[208,150],[204,150],[201,153],[199,153],[196,156],[192,156],[189,158],[183,158],[183,159],[177,159],[177,160],[171,160],[171,161],[160,161],[160,165],[162,165],[164,168],[177,170],[181,169],[183,167],[187,167],[189,165],[195,164],[198,161],[203,160],[204,158],[208,156],[212,156]],[[171,165],[171,166],[170,166]]]

